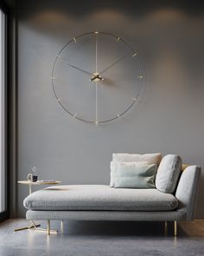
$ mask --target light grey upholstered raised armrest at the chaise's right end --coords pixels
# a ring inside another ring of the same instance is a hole
[[[182,173],[175,192],[175,197],[179,200],[179,209],[185,209],[187,212],[187,220],[194,220],[194,207],[200,175],[201,167],[187,167]]]

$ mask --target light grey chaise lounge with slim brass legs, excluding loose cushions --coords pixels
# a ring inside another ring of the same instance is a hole
[[[174,193],[155,188],[130,189],[105,185],[61,185],[29,194],[23,201],[27,220],[194,220],[201,167],[181,172]]]

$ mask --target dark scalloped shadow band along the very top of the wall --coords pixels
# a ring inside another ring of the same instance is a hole
[[[23,3],[26,3],[26,0],[19,1],[23,6]],[[86,0],[86,3],[82,3],[80,0],[58,0],[58,1],[29,1],[29,13],[24,12],[22,18],[27,18],[28,16],[35,15],[36,10],[41,10],[44,12],[45,10],[54,10],[65,12],[71,16],[78,16],[80,18],[85,18],[86,16],[90,15],[94,11],[103,10],[108,8],[109,10],[123,10],[129,16],[146,16],[151,12],[159,9],[176,9],[190,16],[198,16],[203,14],[203,3],[194,3],[192,2],[183,2],[182,0],[179,1],[163,1],[158,0],[153,2],[151,0],[143,0],[143,2],[136,2],[136,1],[128,1],[124,2],[123,0],[118,0],[117,4],[114,0],[109,1],[93,1],[93,0]]]

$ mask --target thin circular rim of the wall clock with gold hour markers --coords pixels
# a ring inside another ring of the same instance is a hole
[[[121,40],[124,44],[126,44],[127,47],[129,47],[131,50],[132,50],[132,54],[136,54],[136,59],[137,59],[137,64],[138,64],[138,67],[139,67],[139,71],[140,71],[140,75],[142,77],[141,79],[141,82],[140,82],[140,87],[139,87],[139,90],[137,92],[137,95],[136,96],[133,96],[132,97],[132,102],[131,104],[124,109],[124,111],[118,115],[116,115],[115,117],[112,117],[110,119],[107,119],[107,120],[102,120],[102,121],[90,121],[90,120],[86,120],[86,119],[83,119],[77,115],[75,115],[75,113],[73,114],[72,112],[70,112],[62,103],[61,103],[61,99],[58,97],[57,95],[57,92],[56,92],[56,89],[54,87],[54,69],[55,69],[55,66],[57,64],[57,61],[58,59],[60,58],[61,56],[61,52],[67,48],[68,44],[69,43],[73,43],[77,38],[80,38],[81,36],[87,36],[87,35],[91,35],[91,34],[104,34],[104,35],[107,35],[107,36],[113,36],[115,37],[116,39],[119,39]],[[52,69],[52,76],[51,76],[51,81],[52,81],[52,88],[53,88],[53,91],[54,91],[54,96],[57,100],[57,102],[61,105],[61,108],[63,108],[69,115],[71,115],[72,117],[76,118],[77,120],[79,121],[84,121],[84,122],[88,122],[88,123],[92,123],[92,124],[100,124],[100,123],[105,123],[105,122],[108,122],[108,121],[114,121],[116,119],[118,119],[119,117],[123,116],[126,112],[128,112],[131,107],[135,104],[135,102],[137,102],[137,99],[141,93],[141,90],[143,88],[143,69],[142,69],[142,66],[140,64],[140,62],[138,61],[138,58],[137,58],[137,52],[135,49],[133,49],[131,47],[131,45],[129,43],[127,43],[126,41],[124,41],[124,39],[121,37],[121,36],[116,36],[116,35],[113,35],[111,33],[107,33],[107,32],[104,32],[104,31],[91,31],[91,32],[87,32],[87,33],[84,33],[84,34],[81,34],[80,36],[74,36],[72,40],[70,40],[69,42],[67,42],[62,48],[61,50],[59,51],[59,53],[57,54],[55,60],[54,60],[54,65],[53,65],[53,69]]]

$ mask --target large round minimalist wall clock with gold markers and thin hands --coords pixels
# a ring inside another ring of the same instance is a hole
[[[120,118],[137,102],[143,70],[137,50],[121,36],[94,31],[64,45],[51,79],[61,107],[97,125]]]

